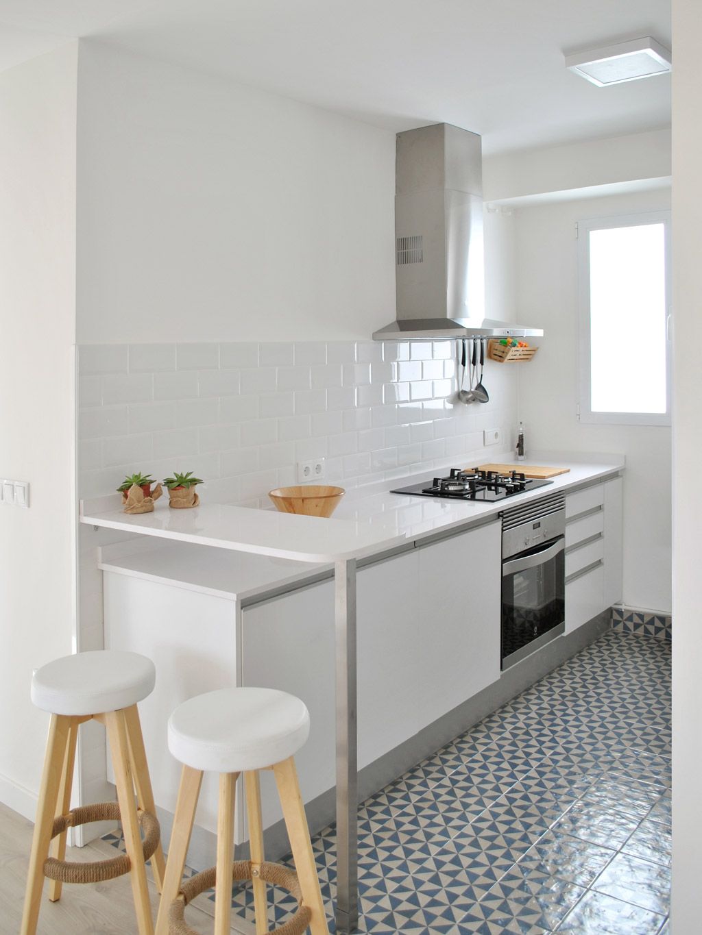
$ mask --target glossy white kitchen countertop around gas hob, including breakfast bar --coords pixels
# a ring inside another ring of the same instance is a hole
[[[460,458],[454,460],[462,463]],[[330,519],[207,503],[193,510],[171,510],[166,497],[156,503],[154,512],[129,516],[120,509],[105,511],[106,502],[119,503],[115,496],[83,503],[80,522],[157,539],[153,549],[139,543],[139,548],[130,550],[129,542],[103,548],[99,563],[103,570],[245,599],[312,578],[334,561],[380,554],[403,542],[482,525],[496,519],[507,505],[520,506],[615,475],[624,467],[624,459],[614,454],[592,462],[576,461],[572,455],[530,456],[524,464],[570,471],[548,486],[519,495],[516,502],[475,503],[389,493],[393,487],[442,473],[434,468],[411,478],[352,489]],[[518,462],[515,468],[519,469]]]

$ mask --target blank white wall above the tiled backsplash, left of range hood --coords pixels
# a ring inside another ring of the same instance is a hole
[[[394,134],[81,41],[78,136],[80,343],[394,318]]]

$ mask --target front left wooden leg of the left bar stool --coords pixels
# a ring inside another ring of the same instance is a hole
[[[27,889],[24,894],[21,935],[35,935],[41,902],[41,890],[44,886],[44,861],[49,855],[51,829],[56,813],[66,759],[66,745],[71,719],[62,714],[51,714],[49,740],[47,741],[44,771],[41,776],[37,820],[32,838],[32,852],[29,857]]]

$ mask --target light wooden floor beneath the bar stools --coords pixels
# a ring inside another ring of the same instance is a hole
[[[0,933],[17,935],[22,921],[22,901],[26,883],[32,822],[0,803]],[[68,860],[100,860],[113,857],[114,848],[105,841],[86,847],[69,848]],[[148,868],[147,868],[148,871]],[[149,880],[154,920],[158,894]],[[118,877],[94,885],[64,885],[58,902],[50,902],[44,889],[37,935],[129,935],[137,931],[129,877]],[[188,924],[202,935],[211,935],[214,903],[197,897],[186,910]],[[233,932],[251,935],[246,923],[238,922]]]

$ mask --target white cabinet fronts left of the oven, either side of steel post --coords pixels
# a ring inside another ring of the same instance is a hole
[[[500,677],[499,522],[358,570],[358,767],[409,740]],[[302,798],[335,783],[333,584],[246,607],[243,684],[310,710],[297,756]],[[262,784],[263,821],[280,817]]]

